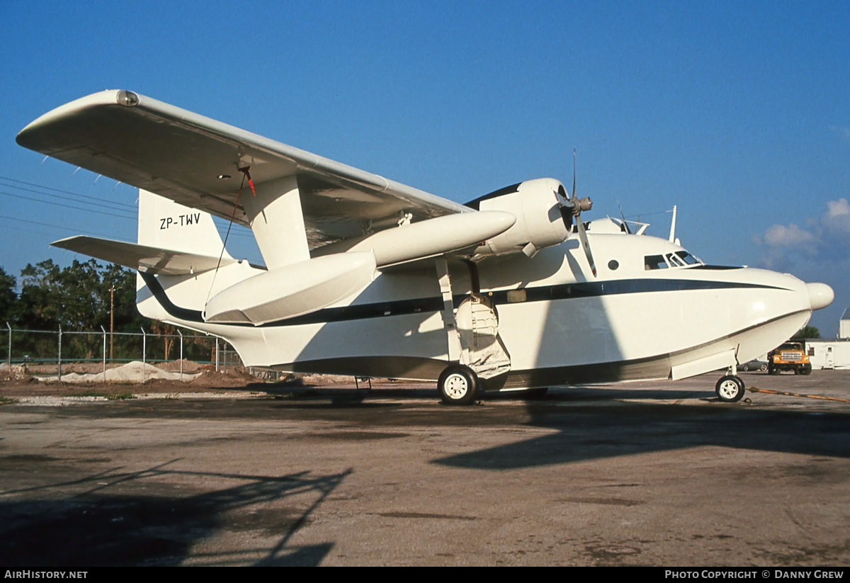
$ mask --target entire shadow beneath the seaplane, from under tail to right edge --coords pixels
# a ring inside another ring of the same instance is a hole
[[[382,402],[390,396],[392,402]],[[373,393],[354,389],[301,388],[275,407],[308,406],[333,416],[334,410],[351,407],[394,409],[405,421],[405,398],[437,399],[435,390],[378,389]],[[435,413],[434,425],[491,425],[504,423],[500,400],[522,400],[522,393],[490,395],[484,407],[445,407]],[[653,402],[655,401],[655,402]],[[658,402],[662,401],[662,402]],[[688,405],[674,405],[685,402]],[[829,405],[827,405],[829,407]],[[445,466],[477,469],[536,467],[657,451],[718,446],[734,449],[777,451],[810,456],[850,457],[850,418],[844,405],[836,410],[763,410],[745,402],[717,402],[714,391],[628,388],[622,386],[555,388],[543,399],[529,400],[525,423],[557,433],[474,450],[433,461]],[[494,418],[497,417],[497,418]],[[335,418],[335,417],[334,417]],[[363,422],[369,423],[367,418]],[[382,422],[385,418],[382,417]]]

